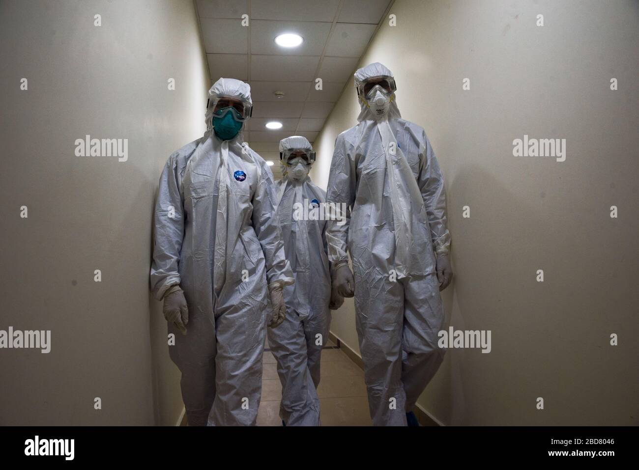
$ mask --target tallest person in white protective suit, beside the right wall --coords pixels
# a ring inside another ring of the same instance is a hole
[[[360,68],[355,87],[359,123],[337,136],[328,177],[327,202],[351,208],[346,224],[328,222],[332,282],[355,294],[373,425],[417,425],[413,406],[445,352],[440,290],[452,269],[443,177],[424,129],[401,119],[390,70]]]

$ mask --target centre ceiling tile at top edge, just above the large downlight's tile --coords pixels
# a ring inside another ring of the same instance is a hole
[[[250,15],[256,20],[332,22],[338,5],[339,0],[251,0]]]

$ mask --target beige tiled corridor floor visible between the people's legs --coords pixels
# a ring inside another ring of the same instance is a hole
[[[266,344],[268,349],[268,344]],[[262,401],[258,426],[281,426],[279,401],[282,385],[277,377],[277,363],[270,351],[264,351]],[[323,426],[370,426],[364,372],[330,342],[321,353],[319,382],[320,420]]]

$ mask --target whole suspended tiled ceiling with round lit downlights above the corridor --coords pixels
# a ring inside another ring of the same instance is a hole
[[[212,82],[225,77],[250,84],[253,117],[244,137],[275,163],[276,177],[279,140],[316,139],[391,1],[196,0]],[[248,15],[248,27],[242,15]],[[283,33],[299,34],[304,42],[280,47],[275,36]],[[275,91],[284,96],[277,98]],[[268,121],[282,128],[268,130]]]

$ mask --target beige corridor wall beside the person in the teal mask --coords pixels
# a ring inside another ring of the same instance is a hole
[[[0,57],[0,330],[51,331],[48,354],[0,349],[0,424],[173,425],[151,215],[168,156],[204,132],[194,5],[2,1]],[[127,161],[75,156],[86,135],[128,139]]]

